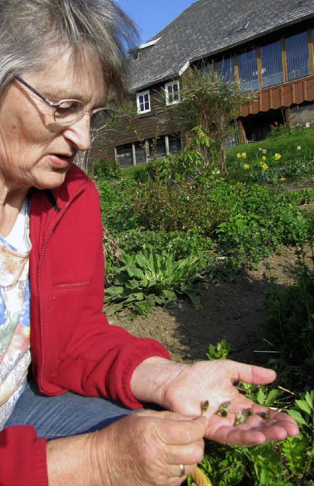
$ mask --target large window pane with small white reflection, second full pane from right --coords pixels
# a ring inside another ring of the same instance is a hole
[[[261,47],[262,86],[284,82],[280,41]]]

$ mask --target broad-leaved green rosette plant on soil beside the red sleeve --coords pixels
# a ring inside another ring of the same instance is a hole
[[[198,257],[176,261],[173,253],[162,251],[159,255],[149,247],[135,255],[123,253],[121,266],[114,270],[105,296],[105,303],[118,302],[111,313],[126,307],[136,309],[139,302],[152,297],[158,305],[169,305],[178,295],[189,298],[195,309],[201,307],[198,292],[205,278],[199,273]]]

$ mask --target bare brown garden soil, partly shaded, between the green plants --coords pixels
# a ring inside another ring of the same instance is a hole
[[[261,262],[257,270],[242,271],[235,281],[203,284],[200,311],[187,301],[178,300],[171,308],[155,307],[146,319],[131,321],[127,313],[119,313],[110,316],[109,323],[135,336],[156,339],[174,361],[207,359],[209,343],[217,345],[226,339],[231,344],[228,358],[262,364],[265,344],[272,351],[271,344],[267,344],[263,311],[268,269],[276,286],[285,288],[293,284],[299,270],[296,250],[281,249]],[[307,264],[312,268],[310,248],[307,255]]]

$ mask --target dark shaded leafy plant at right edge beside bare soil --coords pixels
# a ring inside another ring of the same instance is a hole
[[[265,297],[266,332],[279,358],[269,364],[285,376],[287,386],[302,388],[314,379],[314,275],[298,251],[299,278],[279,289],[270,282]]]

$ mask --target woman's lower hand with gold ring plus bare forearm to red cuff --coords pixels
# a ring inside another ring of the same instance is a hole
[[[145,410],[98,432],[51,440],[49,486],[176,486],[203,458],[206,423]]]

